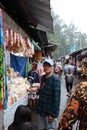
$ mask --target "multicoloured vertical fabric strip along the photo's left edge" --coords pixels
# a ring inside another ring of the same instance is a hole
[[[4,106],[4,35],[2,10],[0,9],[0,109]]]

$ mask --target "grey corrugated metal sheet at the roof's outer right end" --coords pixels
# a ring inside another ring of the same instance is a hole
[[[53,20],[50,11],[50,0],[25,0],[25,4],[37,21],[37,28],[52,32]]]

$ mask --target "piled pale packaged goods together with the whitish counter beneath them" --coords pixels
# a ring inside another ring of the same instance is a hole
[[[20,77],[12,68],[9,68],[7,74],[8,102],[3,115],[4,130],[7,130],[8,126],[13,122],[17,107],[21,104],[28,105],[27,90],[30,88],[27,78]]]

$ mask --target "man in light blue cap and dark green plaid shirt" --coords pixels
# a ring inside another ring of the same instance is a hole
[[[54,61],[43,62],[45,75],[41,77],[37,106],[39,130],[57,130],[60,107],[60,79],[54,73]]]

